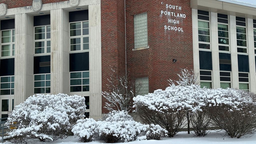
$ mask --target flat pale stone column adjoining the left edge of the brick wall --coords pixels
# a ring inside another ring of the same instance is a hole
[[[89,5],[90,118],[101,118],[101,11],[100,4]]]

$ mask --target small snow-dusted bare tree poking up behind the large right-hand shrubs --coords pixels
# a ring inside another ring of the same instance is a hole
[[[197,81],[198,73],[195,73],[194,70],[190,69],[180,69],[181,72],[177,74],[179,79],[175,82],[180,86],[189,86],[189,85],[198,85],[199,82]],[[169,82],[174,84],[173,81],[170,79]],[[170,85],[171,85],[170,84]],[[191,111],[187,110],[186,112],[187,123],[188,123],[188,134],[190,134],[190,120],[191,120]]]

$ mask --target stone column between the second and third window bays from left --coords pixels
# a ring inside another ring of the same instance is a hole
[[[51,10],[51,94],[69,94],[69,13]]]

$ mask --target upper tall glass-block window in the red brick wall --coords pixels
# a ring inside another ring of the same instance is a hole
[[[147,47],[147,13],[134,15],[134,49]]]

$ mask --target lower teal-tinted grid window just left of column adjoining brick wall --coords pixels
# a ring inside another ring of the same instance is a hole
[[[70,92],[89,91],[89,71],[70,72]]]

